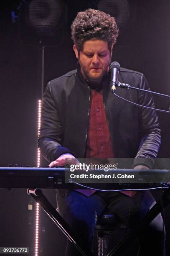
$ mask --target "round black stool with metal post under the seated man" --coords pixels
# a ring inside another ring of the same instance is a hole
[[[104,253],[104,236],[112,234],[114,230],[127,229],[114,213],[109,211],[103,212],[99,217],[94,228],[97,231],[98,238],[98,256],[106,255]]]

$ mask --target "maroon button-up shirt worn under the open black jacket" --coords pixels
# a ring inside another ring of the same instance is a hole
[[[86,158],[113,158],[102,90],[100,92],[91,90]],[[92,189],[76,190],[86,196],[90,196],[95,192],[95,190]]]

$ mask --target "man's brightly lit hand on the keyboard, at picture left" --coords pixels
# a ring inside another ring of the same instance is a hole
[[[59,156],[55,161],[52,161],[49,166],[64,166],[66,164],[80,164],[80,162],[71,154],[63,154]]]

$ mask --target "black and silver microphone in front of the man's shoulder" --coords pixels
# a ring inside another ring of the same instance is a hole
[[[110,64],[110,73],[111,73],[111,82],[110,82],[110,86],[111,86],[111,90],[112,92],[114,92],[116,90],[116,86],[119,81],[118,81],[118,74],[120,71],[120,64],[117,61],[113,61]]]

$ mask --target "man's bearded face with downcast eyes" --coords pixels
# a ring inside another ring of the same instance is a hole
[[[103,40],[89,40],[84,42],[82,51],[76,50],[76,58],[79,59],[81,73],[91,83],[100,83],[107,73],[111,61],[111,55],[107,42]]]

